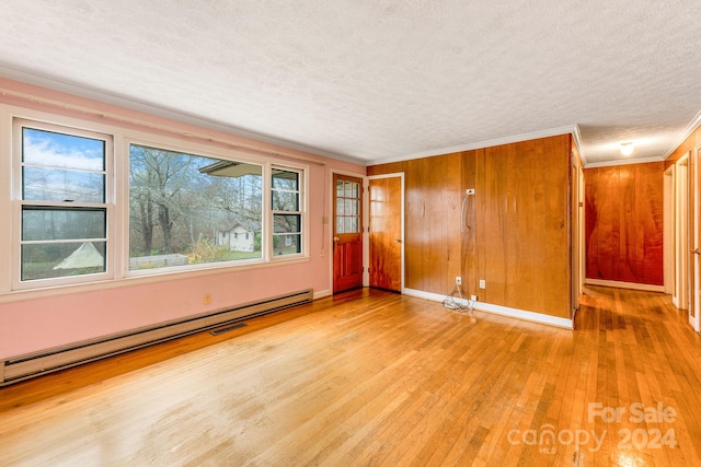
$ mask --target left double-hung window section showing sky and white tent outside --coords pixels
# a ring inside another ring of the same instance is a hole
[[[21,120],[15,129],[21,143],[20,282],[54,284],[104,275],[110,138]]]

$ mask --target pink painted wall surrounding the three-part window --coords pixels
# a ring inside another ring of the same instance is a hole
[[[211,135],[217,139],[231,141],[232,144],[254,145],[263,151],[283,150],[269,143],[193,127],[12,80],[0,79],[0,91],[3,90],[9,90],[10,93],[0,95],[0,103],[10,105],[41,109],[82,120],[102,121],[99,117],[91,117],[81,110],[65,108],[65,105],[90,107],[111,115],[164,125],[181,131]],[[42,97],[42,101],[51,100],[51,102],[32,102],[32,96]],[[119,126],[133,125],[120,124]],[[172,133],[168,136],[173,137]],[[0,360],[303,289],[311,288],[315,293],[329,293],[332,288],[332,255],[329,250],[331,233],[330,225],[323,224],[322,218],[331,217],[331,202],[324,202],[324,197],[327,197],[330,191],[330,174],[333,171],[343,171],[364,175],[365,166],[295,150],[284,149],[284,152],[320,162],[309,164],[310,259],[308,261],[245,270],[230,268],[191,278],[173,275],[171,280],[162,282],[143,283],[141,281],[139,283],[138,280],[134,280],[133,284],[124,287],[89,292],[66,293],[64,290],[56,295],[28,300],[23,299],[26,296],[25,293],[9,292],[9,284],[0,284],[2,290],[0,291]],[[2,196],[7,196],[7,191],[3,190]],[[7,230],[3,234],[7,234]],[[211,293],[211,303],[203,305],[203,295],[207,292]]]

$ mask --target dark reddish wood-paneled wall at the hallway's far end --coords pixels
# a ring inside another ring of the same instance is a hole
[[[664,162],[587,168],[589,279],[663,285]]]

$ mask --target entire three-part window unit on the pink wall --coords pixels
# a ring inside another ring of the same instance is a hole
[[[91,125],[13,120],[10,290],[303,257],[306,166]]]

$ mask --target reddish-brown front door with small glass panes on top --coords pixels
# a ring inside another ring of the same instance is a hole
[[[363,287],[363,179],[333,176],[333,293]]]

